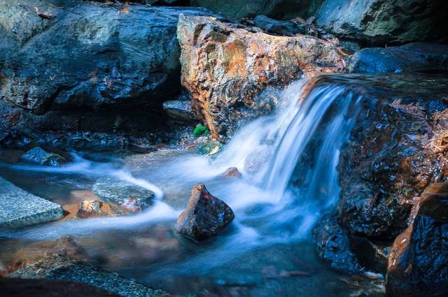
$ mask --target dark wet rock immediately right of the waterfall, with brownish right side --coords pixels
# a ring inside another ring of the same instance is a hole
[[[406,73],[351,85],[368,99],[339,155],[335,217],[349,233],[393,240],[407,228],[414,197],[447,178],[437,145],[448,128],[447,83],[446,75]]]

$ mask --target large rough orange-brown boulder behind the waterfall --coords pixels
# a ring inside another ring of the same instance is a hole
[[[239,120],[274,108],[275,101],[256,96],[262,89],[287,85],[305,71],[332,73],[344,66],[332,43],[248,31],[213,17],[181,15],[177,36],[182,85],[197,118],[219,140],[231,136]]]

